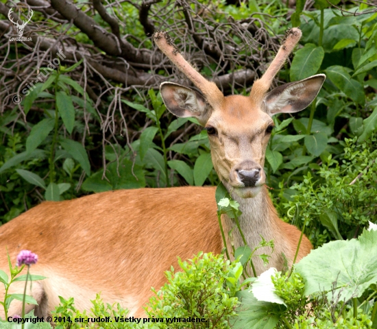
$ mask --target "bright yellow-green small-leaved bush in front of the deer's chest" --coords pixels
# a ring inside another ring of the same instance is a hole
[[[226,287],[234,278],[236,263],[223,256],[199,253],[189,262],[178,260],[182,272],[165,272],[168,283],[155,291],[147,305],[149,317],[196,317],[206,322],[186,324],[158,323],[158,328],[230,328],[229,319],[238,305],[234,293]],[[241,269],[242,272],[242,269]]]

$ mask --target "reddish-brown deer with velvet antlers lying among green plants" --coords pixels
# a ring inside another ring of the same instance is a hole
[[[247,244],[255,247],[260,236],[273,239],[268,266],[278,270],[285,258],[292,265],[301,232],[279,219],[265,186],[263,168],[273,129],[271,117],[304,110],[326,79],[323,74],[313,75],[269,91],[300,37],[300,29],[289,30],[249,96],[224,96],[184,59],[166,32],[153,36],[162,53],[200,90],[163,82],[160,93],[167,110],[177,117],[195,117],[204,126],[219,180],[239,202],[239,223]],[[221,223],[228,245],[243,246],[234,219],[221,215]],[[101,292],[105,302],[119,302],[130,310],[130,316],[145,317],[143,305],[153,295],[151,287],[159,289],[165,284],[164,271],[171,265],[178,267],[177,256],[192,258],[200,251],[220,254],[224,245],[215,187],[180,186],[42,202],[0,227],[3,270],[8,267],[5,247],[12,260],[21,249],[38,254],[31,272],[47,277],[33,282],[27,291],[38,306],[27,304],[26,313],[34,309],[38,317],[47,317],[59,304],[58,296],[74,297],[78,309],[88,310],[90,300]],[[302,236],[297,261],[312,248]],[[267,269],[258,258],[254,267],[257,275]],[[10,290],[23,293],[23,282],[15,282]],[[0,300],[1,296],[0,291]],[[21,302],[13,301],[8,315],[16,314],[21,314]]]

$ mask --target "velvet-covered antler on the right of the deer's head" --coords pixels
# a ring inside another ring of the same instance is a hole
[[[280,46],[280,49],[276,54],[276,57],[271,62],[269,68],[259,80],[254,82],[252,91],[250,92],[250,97],[256,106],[259,106],[260,103],[262,103],[265,93],[267,93],[269,87],[271,86],[273,77],[275,77],[276,73],[278,73],[278,71],[282,68],[284,62],[293,51],[295,45],[297,45],[297,42],[299,42],[301,36],[302,32],[298,27],[289,29],[285,34],[282,45]]]

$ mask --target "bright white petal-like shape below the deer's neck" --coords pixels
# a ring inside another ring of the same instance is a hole
[[[274,267],[267,269],[267,271],[260,274],[260,276],[258,276],[258,278],[254,281],[251,290],[254,297],[256,297],[257,300],[263,302],[283,304],[287,306],[284,303],[284,300],[278,295],[276,295],[276,289],[273,286],[271,280],[271,276],[274,276],[277,272],[278,270]]]

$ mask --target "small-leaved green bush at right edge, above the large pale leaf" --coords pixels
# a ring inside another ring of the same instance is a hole
[[[328,156],[314,171],[315,178],[309,172],[304,182],[291,186],[297,193],[293,192],[292,200],[285,204],[287,215],[293,219],[299,208],[300,219],[306,221],[306,232],[315,245],[352,238],[376,217],[376,138],[362,144],[356,139],[345,138],[343,160]],[[319,230],[319,223],[325,231]]]

